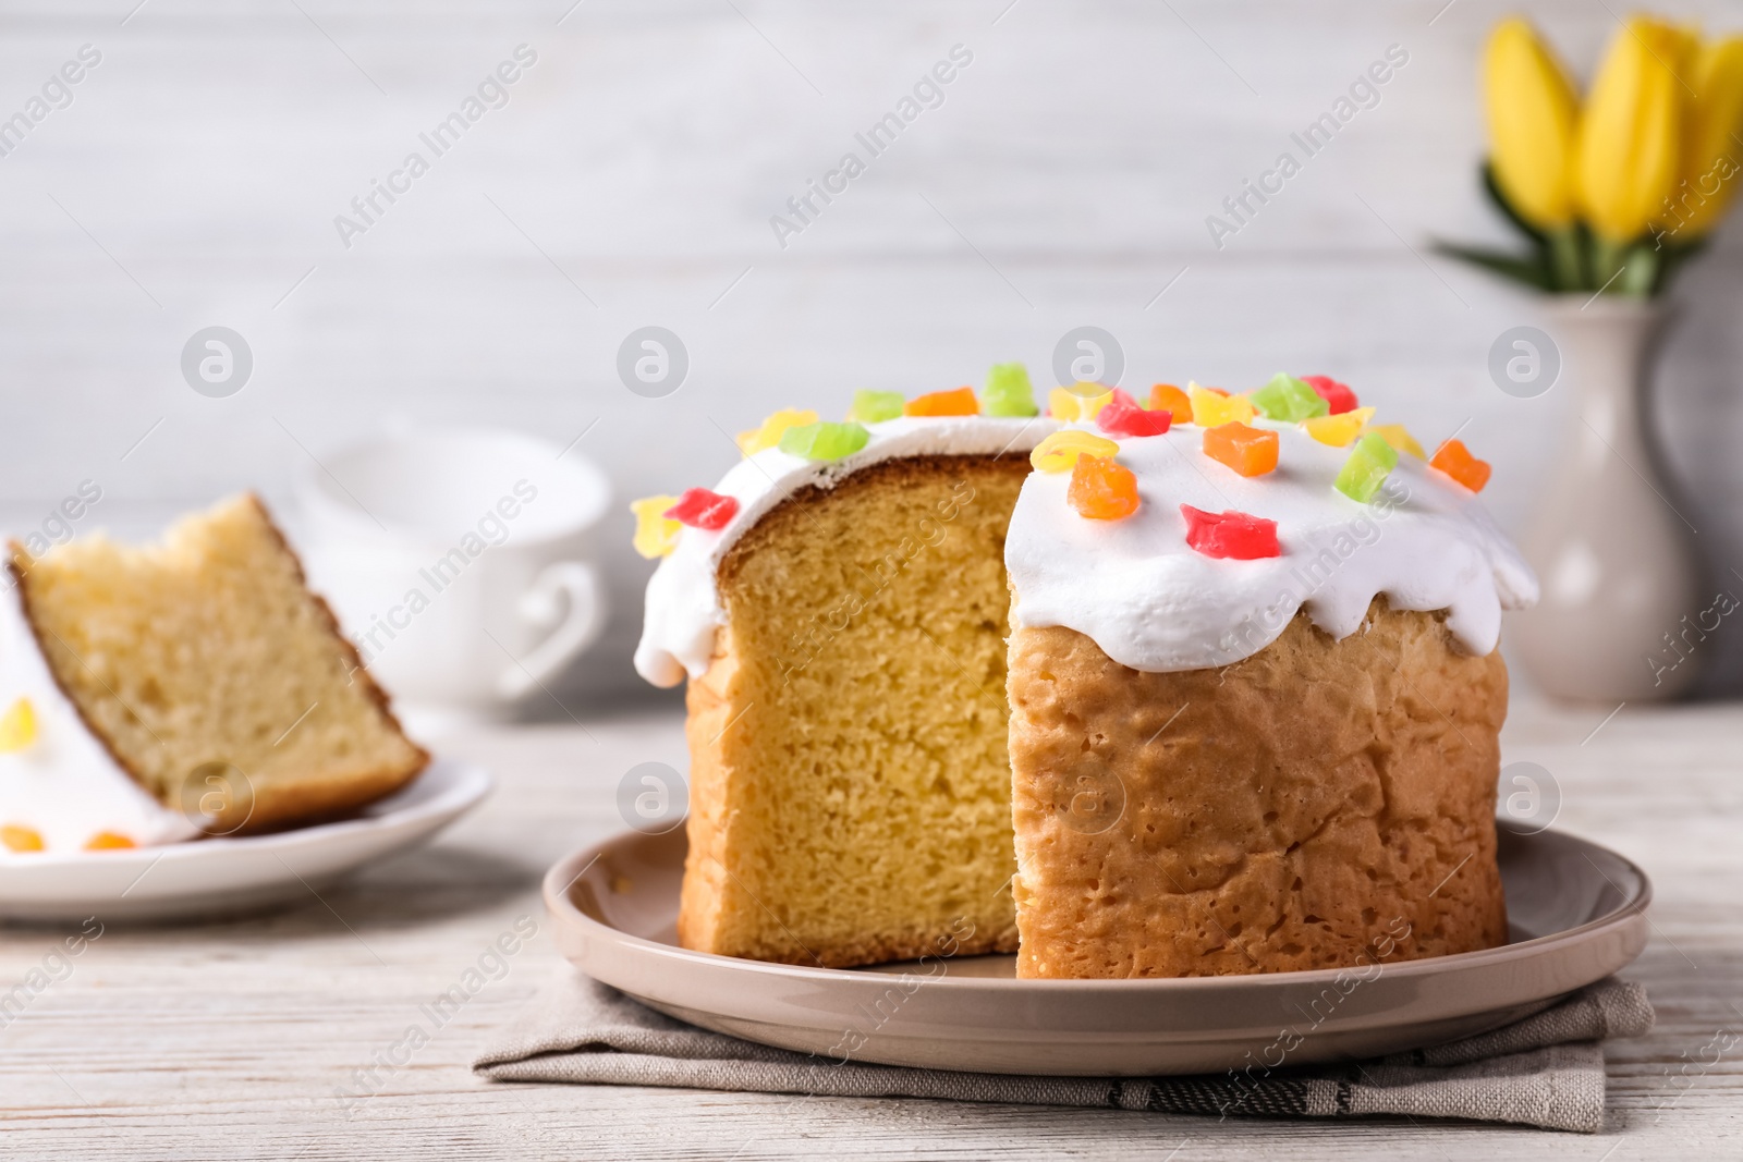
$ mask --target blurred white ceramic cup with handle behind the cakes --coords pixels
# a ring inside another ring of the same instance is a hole
[[[593,645],[605,594],[593,463],[518,432],[415,429],[310,463],[309,580],[413,714],[504,716]]]

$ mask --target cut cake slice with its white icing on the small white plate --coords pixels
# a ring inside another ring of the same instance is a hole
[[[296,826],[429,761],[254,497],[150,547],[14,542],[5,580],[0,855]]]

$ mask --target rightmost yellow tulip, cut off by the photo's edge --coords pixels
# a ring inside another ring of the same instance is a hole
[[[1682,179],[1659,214],[1679,242],[1712,230],[1743,183],[1743,37],[1701,45],[1687,82],[1694,96],[1682,125]]]

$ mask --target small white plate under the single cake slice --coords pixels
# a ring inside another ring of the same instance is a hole
[[[0,920],[188,920],[307,899],[314,887],[422,843],[488,791],[490,772],[439,758],[342,822],[113,852],[0,855]]]

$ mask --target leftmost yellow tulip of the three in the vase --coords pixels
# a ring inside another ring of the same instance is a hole
[[[1574,214],[1572,160],[1579,98],[1536,30],[1508,17],[1483,51],[1489,162],[1520,218],[1544,230]]]

